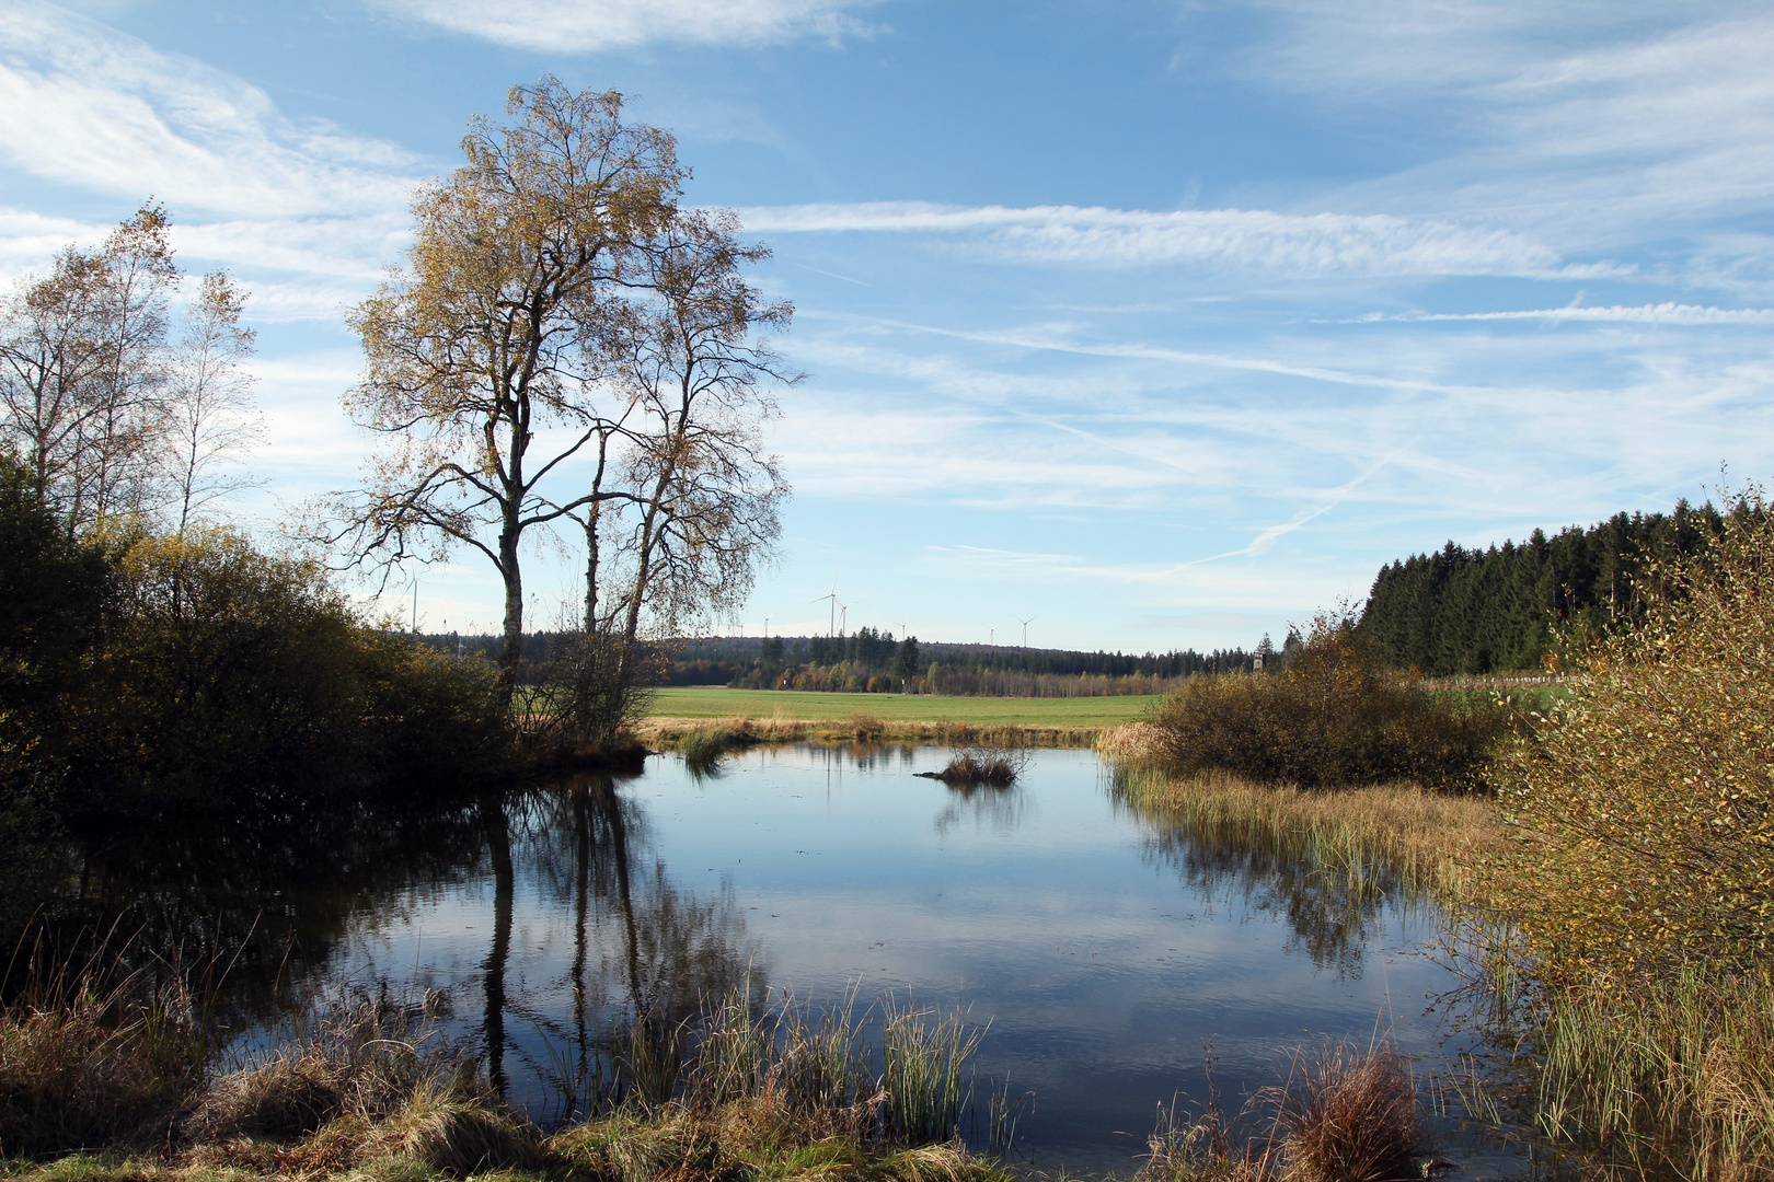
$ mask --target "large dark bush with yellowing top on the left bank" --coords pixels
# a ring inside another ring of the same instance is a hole
[[[461,780],[509,746],[490,675],[367,627],[316,564],[224,528],[122,530],[105,551],[103,629],[62,656],[80,686],[16,744],[66,735],[62,808]]]

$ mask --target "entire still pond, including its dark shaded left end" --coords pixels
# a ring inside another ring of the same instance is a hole
[[[1428,955],[1432,904],[1171,829],[1091,751],[1036,751],[1011,789],[914,774],[947,755],[662,755],[436,812],[135,833],[89,851],[83,909],[128,904],[224,964],[247,1038],[341,991],[436,991],[541,1120],[637,1007],[688,1015],[747,980],[962,1007],[981,1093],[1022,1097],[1015,1150],[1041,1170],[1135,1170],[1158,1104],[1208,1099],[1208,1047],[1229,1111],[1327,1038],[1448,1054],[1428,1007],[1460,982]]]

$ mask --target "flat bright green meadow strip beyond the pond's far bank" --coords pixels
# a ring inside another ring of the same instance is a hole
[[[1158,695],[1116,698],[960,698],[933,693],[814,693],[805,689],[727,689],[667,686],[655,691],[649,718],[844,719],[873,714],[887,723],[969,723],[1015,727],[1118,727],[1146,714]]]

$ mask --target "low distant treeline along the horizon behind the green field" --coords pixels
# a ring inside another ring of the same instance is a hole
[[[497,636],[433,634],[438,649],[497,659]],[[552,633],[523,638],[525,665],[545,661]],[[655,645],[649,666],[662,686],[761,689],[912,691],[976,696],[1075,698],[1167,693],[1194,673],[1249,672],[1244,649],[1196,652],[1084,652],[1018,645],[956,645],[859,627],[848,636],[706,636]],[[525,675],[520,672],[520,680]]]

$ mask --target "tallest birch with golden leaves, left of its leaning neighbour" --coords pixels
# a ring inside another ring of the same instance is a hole
[[[365,376],[353,418],[381,436],[337,503],[355,558],[481,553],[504,583],[502,691],[523,638],[525,535],[600,491],[550,494],[630,409],[601,383],[607,319],[644,280],[639,245],[676,213],[672,136],[623,122],[623,97],[553,78],[516,87],[511,122],[475,121],[467,163],[413,202],[406,264],[351,317]]]

